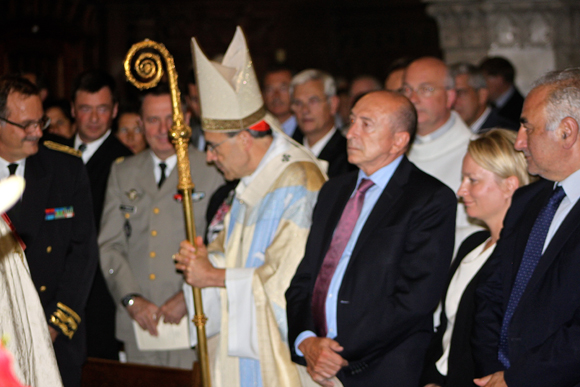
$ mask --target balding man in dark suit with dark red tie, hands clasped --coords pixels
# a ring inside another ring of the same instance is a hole
[[[348,159],[360,171],[322,187],[286,292],[292,358],[323,386],[334,376],[347,387],[417,386],[453,253],[456,199],[404,155],[417,125],[407,98],[369,93],[351,120]],[[348,215],[367,179],[360,216]],[[356,220],[351,232],[345,219]]]

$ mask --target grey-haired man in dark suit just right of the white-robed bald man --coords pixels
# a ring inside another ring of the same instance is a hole
[[[481,134],[493,128],[518,130],[519,121],[500,116],[489,106],[489,89],[481,70],[469,63],[456,63],[449,68],[455,79],[457,98],[453,109],[473,133]]]

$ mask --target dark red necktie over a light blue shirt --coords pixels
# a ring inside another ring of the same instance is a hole
[[[322,262],[322,267],[318,272],[318,277],[316,277],[316,283],[314,284],[314,291],[312,293],[312,317],[314,318],[314,324],[320,337],[325,337],[327,333],[325,304],[330,282],[360,216],[365,194],[373,185],[374,183],[371,180],[362,179],[355,195],[346,203],[340,220],[334,230],[334,235],[332,236],[332,241],[330,242],[330,247],[326,252],[324,261]]]

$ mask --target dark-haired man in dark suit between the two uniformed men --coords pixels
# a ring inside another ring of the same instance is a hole
[[[75,80],[72,93],[72,115],[77,125],[77,134],[71,139],[47,137],[82,152],[91,184],[97,233],[111,164],[119,157],[132,155],[111,133],[117,110],[114,79],[102,71],[84,72]],[[89,357],[119,358],[120,344],[115,339],[115,309],[99,268],[86,308]]]

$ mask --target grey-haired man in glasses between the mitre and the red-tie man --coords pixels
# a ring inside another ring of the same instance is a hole
[[[328,177],[355,170],[347,159],[346,139],[334,124],[338,108],[334,78],[320,70],[304,70],[292,78],[290,95],[298,122],[292,137],[328,161]]]

